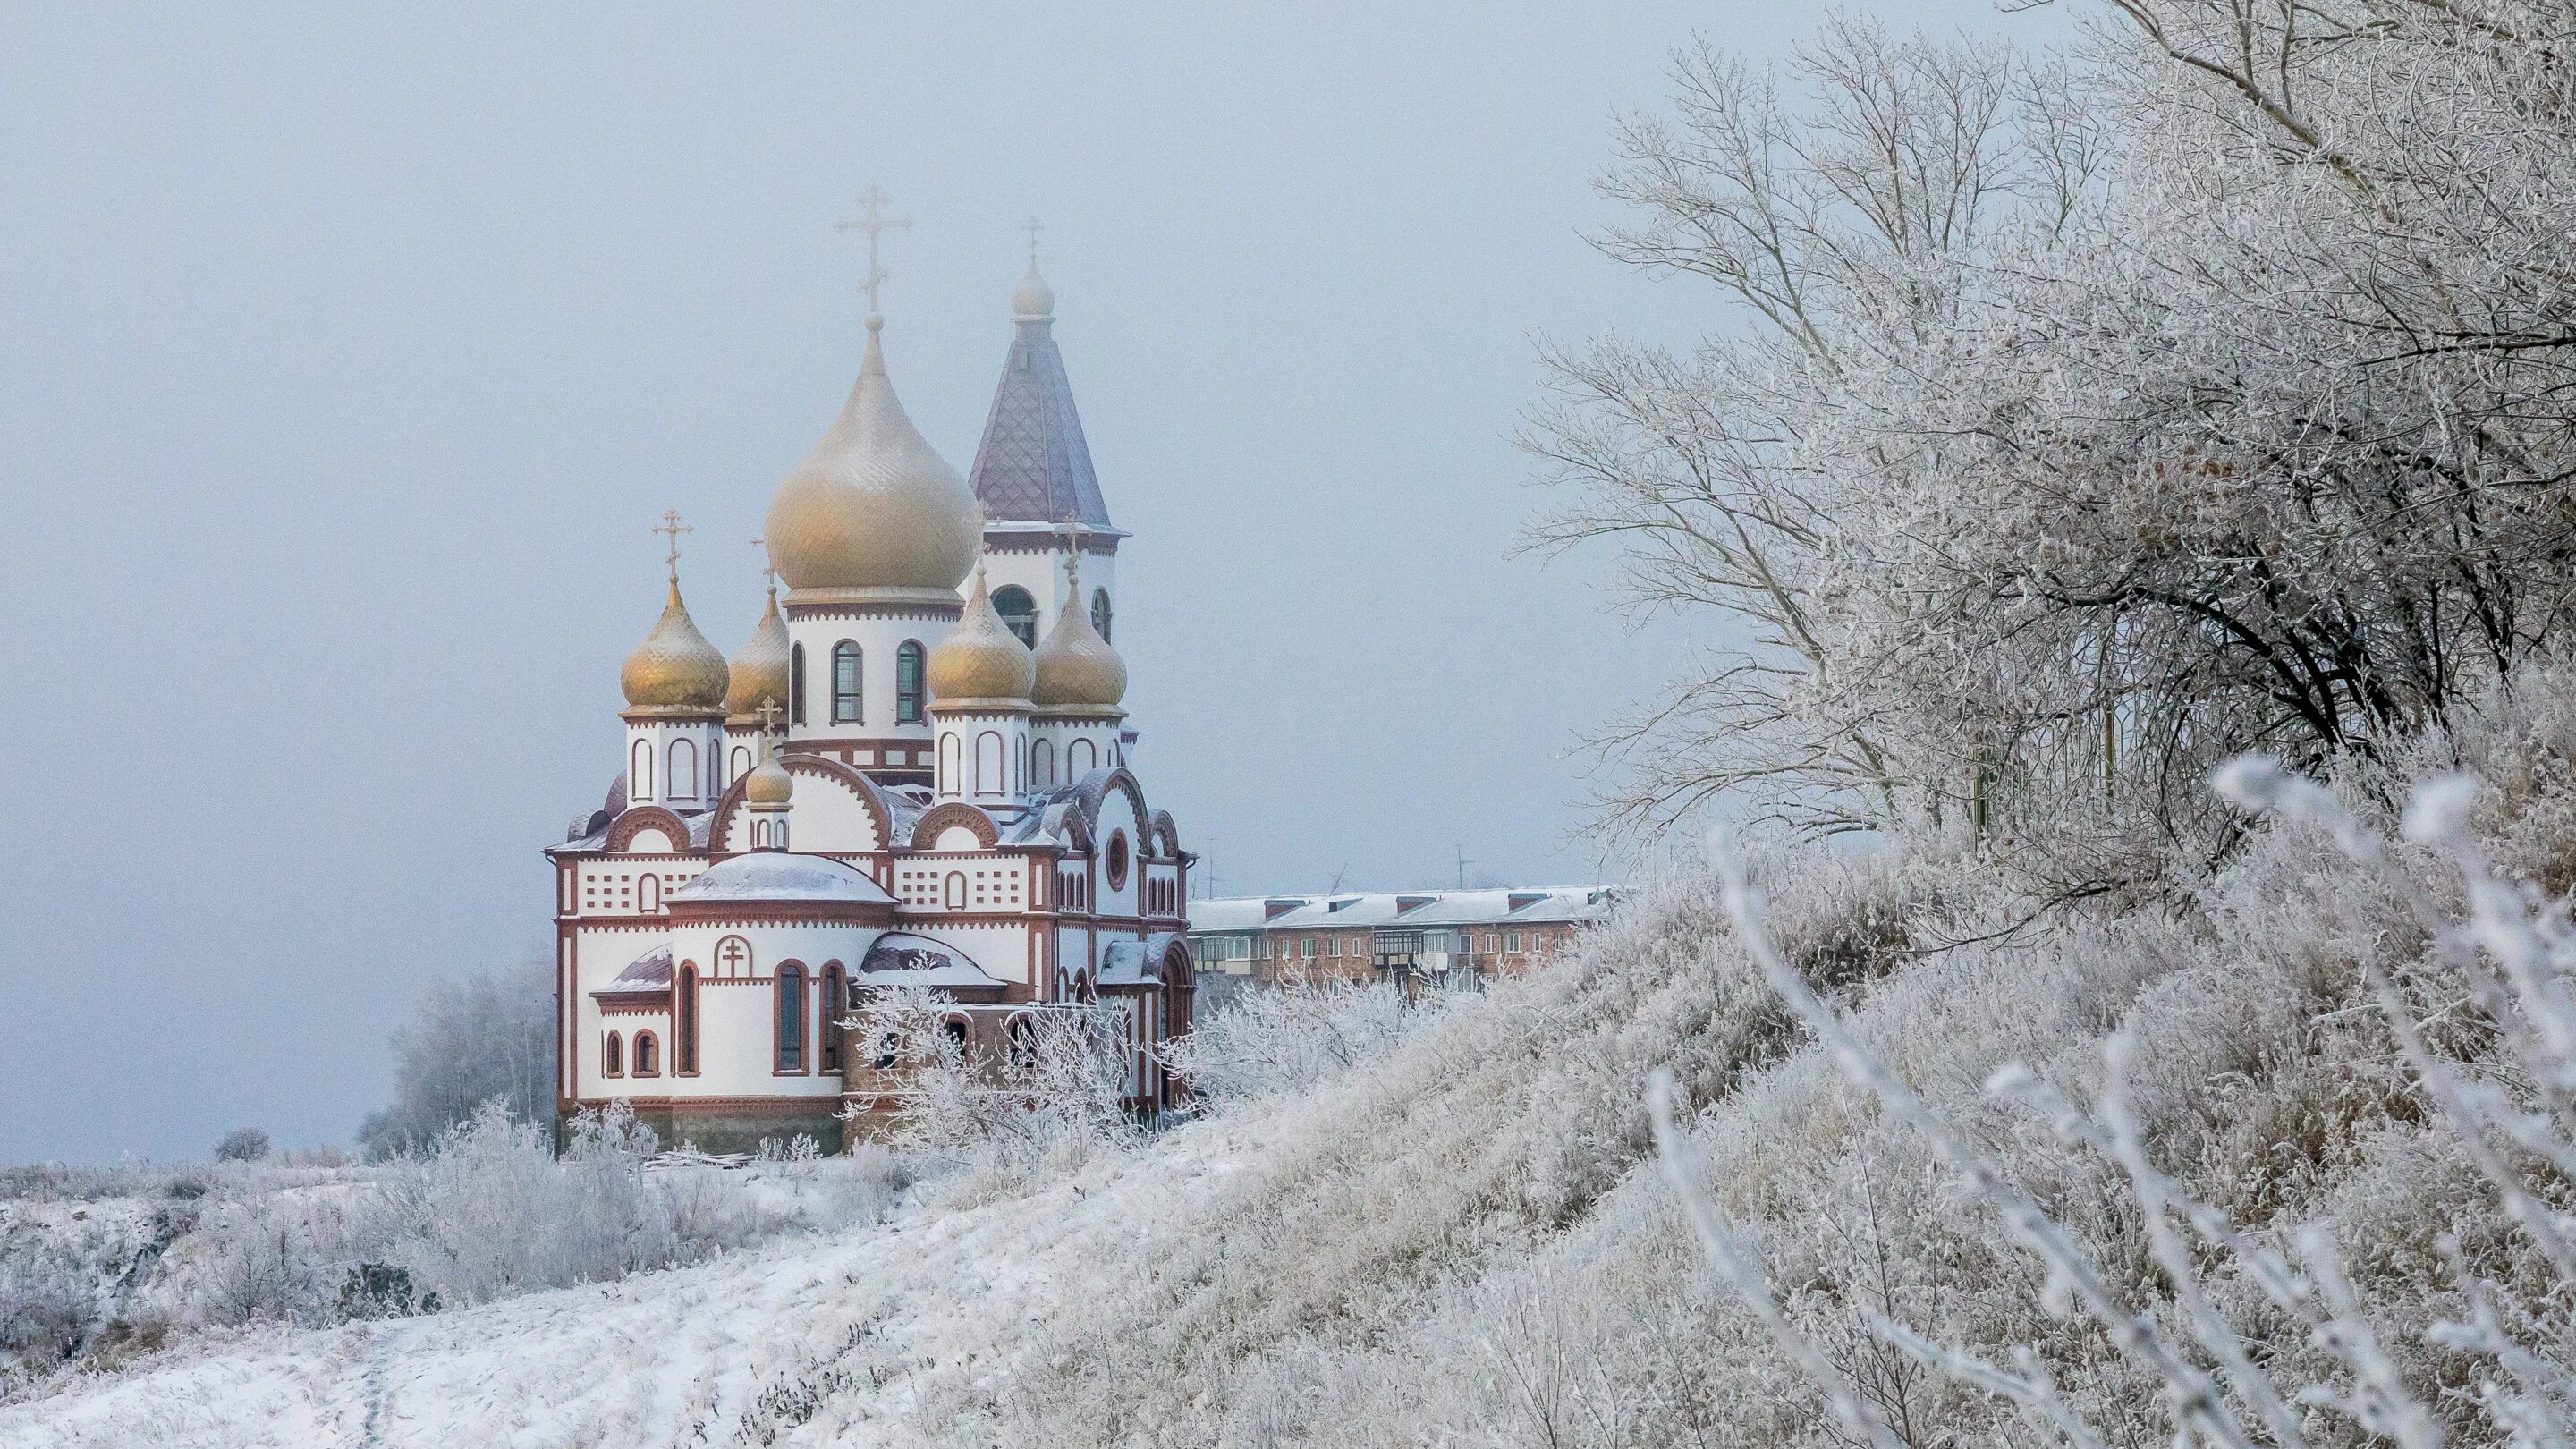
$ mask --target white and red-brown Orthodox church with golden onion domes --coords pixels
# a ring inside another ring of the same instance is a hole
[[[1110,645],[1126,534],[1054,291],[1030,260],[958,477],[886,376],[873,242],[858,384],[770,495],[768,611],[732,660],[680,601],[665,516],[670,596],[618,673],[621,773],[546,851],[564,1116],[626,1098],[665,1142],[840,1150],[886,1075],[837,1024],[902,985],[956,1000],[976,1060],[1051,1006],[1113,1006],[1131,1106],[1177,1091],[1154,1047],[1190,1029],[1193,856],[1133,771]]]

